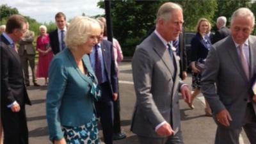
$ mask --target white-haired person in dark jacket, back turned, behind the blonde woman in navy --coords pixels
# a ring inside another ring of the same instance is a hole
[[[230,30],[226,27],[226,23],[227,23],[226,17],[224,16],[218,17],[216,22],[218,31],[216,31],[214,36],[212,37],[212,44],[230,35]]]

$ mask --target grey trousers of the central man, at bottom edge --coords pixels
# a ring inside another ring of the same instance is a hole
[[[166,138],[151,138],[147,136],[138,136],[140,144],[184,144],[182,132],[179,131],[174,136]]]

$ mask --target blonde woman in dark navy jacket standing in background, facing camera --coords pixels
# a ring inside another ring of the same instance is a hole
[[[210,31],[211,24],[209,20],[201,18],[198,20],[196,25],[197,33],[191,40],[192,87],[194,89],[191,97],[191,104],[189,104],[191,109],[195,108],[193,106],[193,99],[195,99],[196,95],[200,93],[200,81],[203,67],[199,67],[197,64],[200,63],[201,66],[204,66],[205,58],[207,57],[211,47],[211,40],[207,35]],[[211,116],[211,109],[206,101],[205,105],[205,115]]]

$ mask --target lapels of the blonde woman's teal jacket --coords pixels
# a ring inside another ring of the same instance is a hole
[[[72,53],[69,51],[69,49],[63,49],[63,51],[66,53],[68,60],[70,61],[70,63],[72,64],[72,66],[74,67],[74,69],[76,69],[77,73],[79,74],[80,77],[82,77],[82,79],[84,79],[84,81],[87,81],[89,84],[92,85],[92,80],[89,77],[86,77],[77,67],[76,61],[74,60],[74,57],[72,55]],[[86,55],[87,56],[87,55]],[[88,56],[87,56],[88,57]],[[85,60],[86,58],[82,58],[82,61],[84,63],[84,67],[86,67],[86,69],[88,69],[88,65],[90,65],[90,60]],[[91,73],[92,74],[92,73]]]

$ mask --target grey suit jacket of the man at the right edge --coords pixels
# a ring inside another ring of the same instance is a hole
[[[202,93],[214,115],[227,109],[232,117],[231,128],[243,125],[251,81],[256,72],[256,37],[249,36],[250,80],[246,78],[237,48],[231,36],[212,45],[202,73]],[[216,86],[215,86],[216,84]],[[253,104],[254,109],[255,103]],[[256,110],[256,109],[255,109]]]

